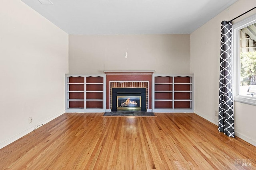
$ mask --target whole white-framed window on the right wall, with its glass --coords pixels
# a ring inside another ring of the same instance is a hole
[[[256,15],[233,25],[234,100],[256,106]]]

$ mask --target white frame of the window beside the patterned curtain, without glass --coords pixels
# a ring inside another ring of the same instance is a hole
[[[234,63],[233,94],[234,94],[235,102],[241,102],[241,103],[256,106],[256,98],[239,95],[239,86],[240,86],[239,30],[249,25],[252,25],[253,23],[256,23],[256,14],[248,18],[245,18],[244,20],[241,20],[233,25],[233,33],[232,33],[232,39],[233,39],[232,53],[233,53],[233,63]]]

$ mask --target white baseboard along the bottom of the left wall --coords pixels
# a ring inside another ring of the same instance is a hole
[[[24,137],[25,135],[27,135],[28,133],[34,131],[34,128],[36,128],[37,126],[40,126],[40,125],[44,125],[50,121],[52,121],[53,119],[55,119],[56,117],[59,117],[60,115],[64,114],[65,113],[65,110],[64,111],[61,111],[60,113],[57,113],[56,115],[40,122],[40,123],[37,123],[35,126],[33,127],[30,127],[29,129],[26,129],[25,131],[17,134],[17,135],[14,135],[13,137],[11,137],[10,139],[7,139],[6,141],[0,143],[0,149],[3,148],[3,147],[6,147],[7,145],[9,145],[10,143],[13,143],[14,141],[20,139],[21,137]]]

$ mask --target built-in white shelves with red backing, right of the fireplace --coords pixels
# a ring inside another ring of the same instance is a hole
[[[153,74],[153,112],[193,112],[192,74]]]

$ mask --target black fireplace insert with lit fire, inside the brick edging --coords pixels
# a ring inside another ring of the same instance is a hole
[[[112,111],[146,111],[146,88],[112,88]]]

